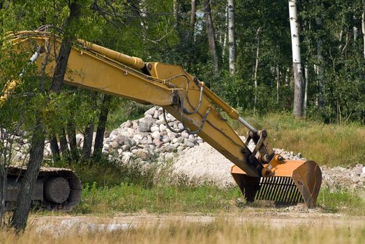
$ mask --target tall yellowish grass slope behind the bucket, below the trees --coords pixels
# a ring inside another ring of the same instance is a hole
[[[266,129],[268,142],[274,148],[301,153],[304,158],[329,167],[351,167],[365,164],[365,127],[357,124],[324,124],[293,119],[290,114],[268,114],[246,117],[255,128]],[[234,128],[241,135],[246,130],[237,122]]]

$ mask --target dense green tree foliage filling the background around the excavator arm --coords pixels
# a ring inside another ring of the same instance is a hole
[[[77,23],[66,23],[69,4],[72,1],[6,1],[6,9],[1,11],[2,33],[24,29],[36,29],[42,24],[64,28],[66,34],[76,33],[77,37],[91,40],[119,52],[140,56],[146,61],[165,61],[177,63],[188,72],[206,82],[213,91],[222,96],[230,105],[242,111],[288,112],[292,109],[292,61],[290,59],[290,28],[288,22],[288,3],[285,1],[236,1],[235,24],[237,46],[237,73],[228,74],[228,45],[225,2],[212,1],[216,44],[218,49],[220,73],[211,75],[211,59],[205,33],[202,4],[198,4],[197,22],[191,40],[189,14],[190,2],[179,1],[175,6],[170,0],[164,1],[80,1],[81,17]],[[325,123],[364,123],[364,57],[362,56],[361,35],[352,36],[352,27],[360,31],[360,1],[311,0],[299,4],[301,24],[301,49],[304,66],[309,70],[308,111],[309,118],[320,119]],[[354,14],[355,13],[355,14]],[[318,24],[322,20],[322,24]],[[50,29],[52,31],[52,29]],[[359,32],[361,33],[361,32]],[[318,41],[322,41],[322,45]],[[5,47],[5,46],[3,46]],[[258,47],[260,52],[257,56]],[[322,53],[324,61],[317,55]],[[23,54],[22,62],[15,56],[1,59],[1,87],[9,79],[17,77],[31,56]],[[253,73],[258,59],[258,102],[253,97]],[[12,60],[12,61],[9,61]],[[314,66],[322,66],[323,91]],[[16,66],[16,67],[15,67]],[[7,70],[7,71],[6,71]],[[31,127],[34,111],[41,111],[47,133],[59,134],[68,122],[73,122],[77,131],[83,131],[89,123],[96,123],[100,107],[100,97],[89,91],[64,88],[58,94],[40,91],[50,85],[49,79],[34,79],[35,70],[27,70],[22,85],[15,89],[14,98],[26,100],[8,102],[8,106],[27,107],[29,114],[27,128]],[[279,89],[276,89],[278,85]],[[96,96],[96,97],[94,97]],[[324,105],[318,105],[319,97]],[[95,98],[95,99],[94,99]],[[16,103],[16,104],[15,104]],[[112,114],[107,128],[112,130],[126,119],[141,114],[139,106],[114,99],[110,106]],[[10,111],[4,107],[4,111]],[[77,113],[75,111],[82,111]],[[20,114],[6,116],[19,119]],[[26,129],[24,127],[24,129]]]

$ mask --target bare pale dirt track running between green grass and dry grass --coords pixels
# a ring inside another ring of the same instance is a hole
[[[63,216],[32,216],[29,228],[35,229],[38,234],[62,235],[77,231],[82,234],[99,228],[110,230],[134,229],[139,227],[166,227],[171,223],[184,224],[212,223],[220,218],[234,224],[263,224],[265,227],[315,226],[319,224],[346,225],[348,227],[365,227],[365,216],[346,216],[335,213],[318,213],[305,207],[290,207],[284,209],[247,208],[238,213],[117,213],[113,216],[94,215],[63,215]],[[110,227],[108,227],[108,225]]]

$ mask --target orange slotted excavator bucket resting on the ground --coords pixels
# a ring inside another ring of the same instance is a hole
[[[267,200],[278,204],[305,203],[315,206],[322,183],[322,171],[317,163],[303,160],[284,160],[271,168],[271,176],[248,176],[237,165],[231,174],[246,201]]]

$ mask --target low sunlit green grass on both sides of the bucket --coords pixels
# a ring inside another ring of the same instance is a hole
[[[238,188],[219,189],[211,185],[177,186],[141,185],[121,183],[114,186],[98,187],[84,185],[82,202],[73,211],[75,214],[113,213],[220,213],[245,211],[254,207],[255,211],[267,206],[237,201],[241,198]],[[270,208],[270,207],[269,207]],[[343,213],[365,216],[365,199],[358,192],[346,190],[320,190],[318,209],[322,213]],[[271,211],[276,211],[274,208]],[[281,211],[278,208],[278,211]]]

